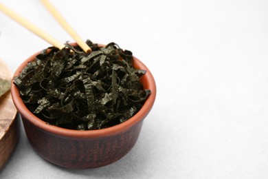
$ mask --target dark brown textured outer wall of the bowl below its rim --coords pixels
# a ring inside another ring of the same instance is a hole
[[[38,129],[23,117],[23,126],[37,154],[56,165],[88,169],[109,165],[125,156],[135,145],[142,121],[129,130],[102,138],[71,138]]]

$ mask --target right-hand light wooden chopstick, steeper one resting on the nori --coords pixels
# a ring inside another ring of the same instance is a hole
[[[50,3],[48,0],[41,0],[41,3],[43,3],[45,8],[47,8],[47,10],[52,14],[56,21],[60,23],[63,29],[65,29],[69,33],[69,35],[76,41],[76,43],[78,43],[80,48],[82,48],[84,52],[90,53],[91,48],[89,48],[89,45],[87,45],[87,43],[85,43],[85,41],[80,38],[80,36],[74,31],[74,29],[71,28],[71,25],[69,25],[69,23],[65,21],[63,16],[61,16],[60,13],[56,10],[56,8],[54,8],[52,3]]]

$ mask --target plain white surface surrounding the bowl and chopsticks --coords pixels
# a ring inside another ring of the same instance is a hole
[[[0,178],[267,178],[268,1],[51,0],[82,39],[118,43],[155,76],[157,98],[124,158],[73,170],[34,153],[23,127]],[[73,41],[37,0],[2,0]],[[0,58],[14,72],[49,44],[0,13]]]

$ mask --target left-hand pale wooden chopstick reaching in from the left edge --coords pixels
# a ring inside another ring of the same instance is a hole
[[[46,32],[44,32],[43,30],[41,30],[40,28],[38,28],[36,25],[34,25],[33,23],[31,23],[30,21],[27,21],[26,19],[24,19],[23,17],[21,17],[21,15],[16,14],[12,10],[10,10],[10,8],[4,6],[3,3],[0,3],[0,10],[4,14],[6,14],[8,17],[10,17],[14,21],[20,23],[25,28],[27,28],[28,30],[32,31],[34,34],[38,35],[39,37],[41,37],[42,39],[44,39],[45,41],[47,41],[48,43],[50,43],[54,47],[59,48],[59,49],[62,49],[62,48],[65,47],[65,45],[63,45],[63,43],[60,43],[59,41],[57,41],[56,39],[54,39],[52,36],[50,36],[49,34],[47,34]]]

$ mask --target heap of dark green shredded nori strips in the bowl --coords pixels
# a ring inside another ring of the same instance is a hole
[[[133,68],[130,51],[115,43],[87,44],[90,54],[69,44],[43,50],[14,78],[23,103],[50,125],[78,130],[118,125],[150,94],[139,83],[146,71]]]

